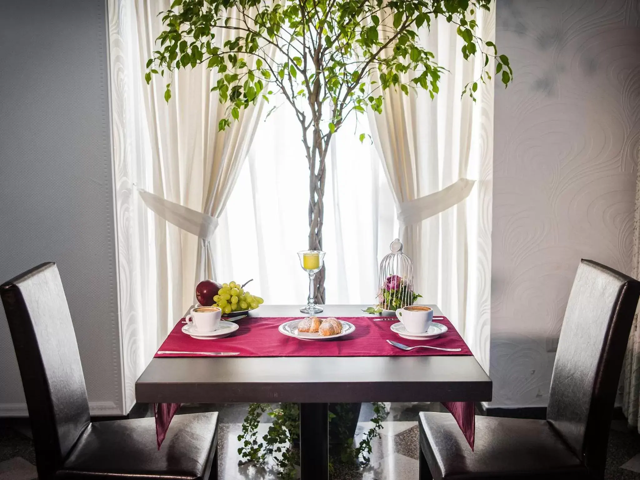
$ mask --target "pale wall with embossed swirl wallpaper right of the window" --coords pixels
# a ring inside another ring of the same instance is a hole
[[[640,2],[497,1],[491,406],[544,406],[580,258],[630,273]]]

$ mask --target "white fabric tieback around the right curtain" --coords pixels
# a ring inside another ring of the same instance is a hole
[[[401,225],[413,225],[444,212],[465,200],[475,183],[476,180],[460,179],[435,193],[402,202],[398,206],[398,221]]]

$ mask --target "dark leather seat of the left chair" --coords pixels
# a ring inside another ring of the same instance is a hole
[[[56,477],[205,480],[218,440],[217,422],[216,412],[175,415],[160,450],[154,418],[93,422]]]

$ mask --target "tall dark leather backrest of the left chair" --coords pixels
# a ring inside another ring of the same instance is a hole
[[[40,480],[60,468],[90,422],[76,333],[54,263],[0,285],[27,399]]]

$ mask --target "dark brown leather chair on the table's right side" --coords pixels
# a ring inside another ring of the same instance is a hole
[[[471,451],[448,413],[420,414],[420,480],[602,479],[640,283],[591,260],[573,282],[547,420],[476,417]]]

